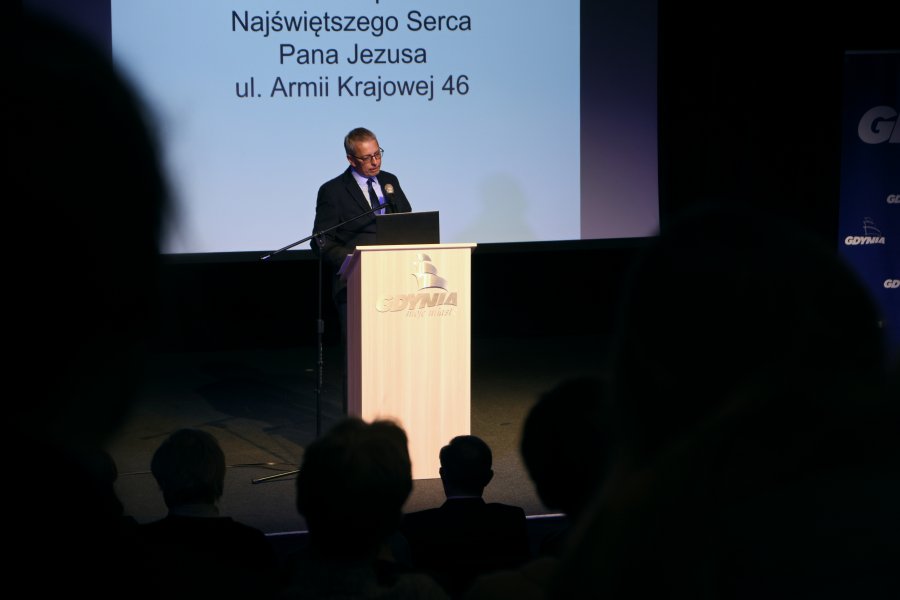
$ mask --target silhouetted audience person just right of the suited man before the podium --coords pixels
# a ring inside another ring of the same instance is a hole
[[[565,379],[545,391],[528,411],[519,450],[538,497],[565,521],[549,534],[539,554],[519,569],[478,577],[464,598],[543,598],[559,565],[568,532],[589,506],[612,462],[614,432],[604,378]]]

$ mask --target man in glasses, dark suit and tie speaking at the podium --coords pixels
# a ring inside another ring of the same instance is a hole
[[[319,187],[313,233],[322,234],[312,238],[310,246],[332,274],[332,298],[341,324],[340,372],[346,414],[347,289],[338,271],[357,246],[375,242],[376,212],[412,212],[412,207],[397,176],[381,170],[384,149],[374,133],[364,127],[351,130],[344,137],[344,151],[350,166]],[[382,208],[371,212],[376,206]]]

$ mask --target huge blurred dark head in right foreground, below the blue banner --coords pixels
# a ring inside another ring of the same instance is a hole
[[[772,402],[772,425],[788,427],[878,385],[885,343],[866,288],[792,225],[702,207],[645,248],[614,344],[614,398],[635,456],[738,396]]]

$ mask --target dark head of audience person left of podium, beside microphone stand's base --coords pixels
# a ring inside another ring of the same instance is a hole
[[[160,444],[150,470],[166,506],[215,504],[225,489],[225,453],[202,429],[179,429]]]

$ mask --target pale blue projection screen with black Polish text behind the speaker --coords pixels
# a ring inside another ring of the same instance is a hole
[[[113,57],[148,101],[176,196],[168,252],[306,237],[357,126],[378,135],[413,209],[440,211],[443,242],[580,237],[577,1],[111,10]]]

